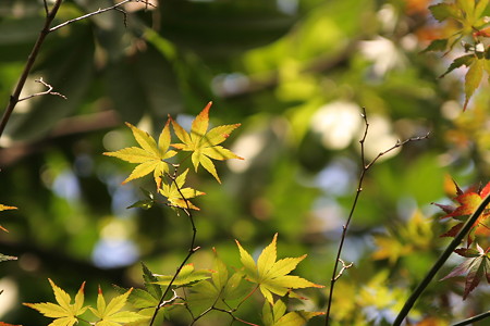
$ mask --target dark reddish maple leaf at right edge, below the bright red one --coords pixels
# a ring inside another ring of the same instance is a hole
[[[463,263],[454,267],[450,274],[448,274],[441,280],[450,277],[466,275],[465,291],[463,293],[463,300],[478,286],[481,278],[485,276],[490,284],[490,256],[480,246],[476,246],[477,249],[458,249],[456,251],[463,256],[468,258]]]

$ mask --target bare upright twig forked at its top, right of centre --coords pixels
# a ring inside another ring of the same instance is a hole
[[[394,146],[392,146],[391,148],[387,149],[385,151],[380,152],[375,159],[372,159],[369,163],[366,164],[365,162],[365,148],[364,148],[364,143],[366,141],[366,137],[368,135],[368,130],[369,130],[369,123],[367,120],[367,115],[366,115],[366,109],[363,108],[363,113],[362,116],[364,118],[364,124],[365,124],[365,129],[364,129],[364,135],[363,138],[359,140],[360,143],[360,163],[362,163],[362,172],[360,172],[360,176],[359,176],[359,181],[357,184],[357,190],[356,190],[356,196],[354,197],[354,202],[351,206],[351,212],[348,213],[348,217],[347,221],[345,222],[345,224],[342,227],[342,237],[339,243],[339,249],[336,252],[336,258],[335,258],[335,264],[333,266],[333,271],[332,271],[332,277],[330,278],[330,292],[329,292],[329,300],[327,303],[327,314],[326,314],[326,322],[324,325],[328,326],[330,323],[330,310],[331,310],[331,305],[332,305],[332,300],[333,300],[333,289],[335,287],[335,283],[339,279],[340,276],[342,276],[343,272],[347,268],[344,264],[344,262],[341,260],[341,254],[342,254],[342,249],[345,242],[345,237],[347,235],[347,229],[348,229],[348,225],[351,224],[352,217],[354,215],[354,211],[357,206],[357,201],[359,199],[360,192],[363,191],[363,183],[364,183],[364,177],[366,176],[367,172],[369,171],[369,168],[384,154],[393,151],[394,149],[404,146],[407,142],[412,142],[412,141],[418,141],[418,140],[422,140],[422,139],[427,139],[429,138],[429,134],[425,135],[425,136],[420,136],[420,137],[414,137],[414,138],[408,138],[404,141],[400,141],[397,140],[396,143]],[[339,269],[339,262],[342,262],[342,268],[341,271],[338,273],[336,271]]]

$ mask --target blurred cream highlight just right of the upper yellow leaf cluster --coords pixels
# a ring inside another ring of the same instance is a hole
[[[255,156],[264,149],[266,143],[264,135],[259,133],[250,133],[243,135],[235,141],[231,148],[232,152],[238,153],[245,160],[229,160],[228,167],[234,173],[245,172]]]

